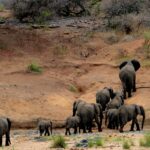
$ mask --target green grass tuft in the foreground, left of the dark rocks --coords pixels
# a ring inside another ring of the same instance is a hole
[[[52,148],[66,148],[67,144],[63,136],[56,136],[53,138]]]

